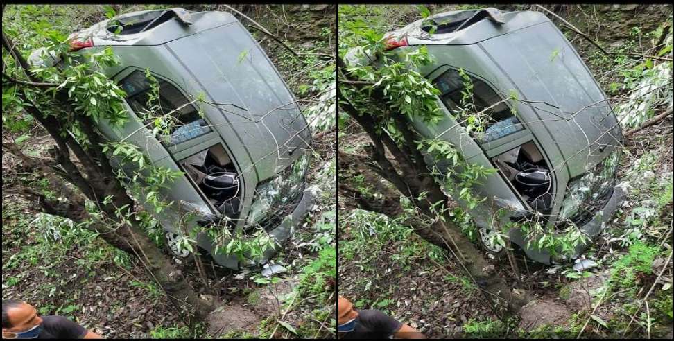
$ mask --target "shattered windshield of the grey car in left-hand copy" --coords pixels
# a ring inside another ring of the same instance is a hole
[[[282,213],[288,204],[293,204],[297,194],[302,191],[308,168],[309,153],[305,152],[281,173],[259,184],[250,206],[248,225],[263,225],[261,222],[266,218]]]

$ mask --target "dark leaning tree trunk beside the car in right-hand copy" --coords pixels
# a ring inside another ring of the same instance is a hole
[[[340,73],[347,78],[343,61],[338,60],[338,63]],[[389,108],[386,97],[381,90],[373,89],[370,99],[374,101],[376,107],[388,111],[385,115],[394,118],[396,128],[403,134],[405,142],[398,145],[388,134],[377,134],[377,119],[358,111],[349,99],[343,96],[340,89],[338,96],[341,99],[340,107],[361,125],[373,143],[366,148],[368,159],[358,160],[358,164],[368,164],[374,173],[388,180],[417,207],[418,218],[408,219],[407,224],[426,241],[448,250],[455,256],[462,270],[474,279],[494,306],[505,308],[509,313],[517,313],[521,306],[526,304],[528,292],[524,295],[514,295],[512,289],[494,267],[490,266],[482,252],[469,241],[459,227],[453,224],[447,211],[440,213],[444,216],[444,221],[436,218],[438,213],[435,213],[432,205],[436,202],[447,202],[447,196],[440,189],[438,182],[429,175],[424,157],[413,146],[413,141],[420,137],[415,136],[405,116],[386,109]],[[386,156],[387,150],[395,158],[395,164]],[[419,200],[424,192],[427,193],[426,198]]]

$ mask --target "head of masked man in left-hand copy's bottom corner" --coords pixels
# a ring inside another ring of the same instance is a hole
[[[2,338],[35,338],[42,318],[30,304],[15,299],[2,300]]]

